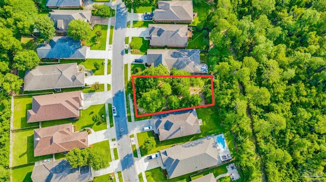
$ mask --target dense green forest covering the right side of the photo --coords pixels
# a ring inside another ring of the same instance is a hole
[[[221,0],[207,64],[245,181],[323,181],[326,1]]]

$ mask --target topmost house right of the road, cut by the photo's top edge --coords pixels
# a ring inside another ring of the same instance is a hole
[[[158,23],[192,23],[193,1],[158,1],[153,20]]]

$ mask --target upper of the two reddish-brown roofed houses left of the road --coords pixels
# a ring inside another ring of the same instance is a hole
[[[82,91],[33,96],[32,110],[27,111],[27,122],[79,117],[82,99]]]

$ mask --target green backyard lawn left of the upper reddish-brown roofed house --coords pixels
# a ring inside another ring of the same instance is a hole
[[[13,128],[25,128],[38,126],[39,123],[27,123],[27,110],[32,109],[32,96],[14,97],[14,120]]]

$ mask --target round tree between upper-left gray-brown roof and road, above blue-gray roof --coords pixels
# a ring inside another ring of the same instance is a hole
[[[92,28],[83,20],[72,20],[68,24],[67,35],[74,40],[84,41],[88,40],[91,36]]]

